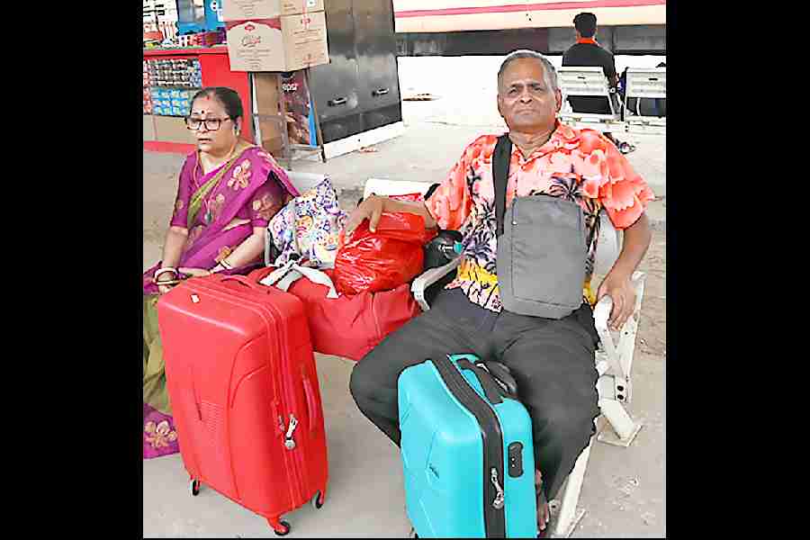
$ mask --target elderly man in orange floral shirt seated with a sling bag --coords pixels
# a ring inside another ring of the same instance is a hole
[[[515,51],[498,73],[498,111],[509,126],[512,153],[506,202],[546,193],[577,202],[584,211],[588,257],[581,307],[560,320],[518,315],[502,308],[497,253],[492,153],[497,137],[483,135],[464,149],[450,175],[427,202],[368,197],[347,222],[347,234],[365,219],[372,230],[383,211],[409,211],[428,227],[457,229],[464,257],[455,280],[430,311],[394,332],[354,368],[350,389],[357,406],[399,446],[397,379],[428,357],[473,353],[508,365],[520,400],[532,418],[538,486],[538,527],[594,433],[599,415],[594,351],[599,337],[592,305],[608,294],[609,324],[619,329],[633,312],[630,276],[644,257],[651,233],[644,215],[653,192],[617,148],[593,130],[573,130],[556,119],[562,94],[551,63],[530,50]],[[606,209],[624,245],[594,294],[590,287]],[[538,268],[538,278],[542,276]]]

